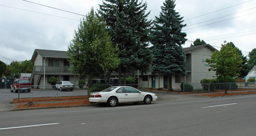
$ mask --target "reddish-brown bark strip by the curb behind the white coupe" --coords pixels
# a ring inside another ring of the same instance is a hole
[[[60,103],[58,103],[58,101]],[[67,106],[81,106],[90,104],[87,96],[66,96],[66,97],[47,97],[47,98],[21,98],[12,100],[12,103],[19,104],[15,109],[23,108],[48,108],[48,107],[67,107]]]

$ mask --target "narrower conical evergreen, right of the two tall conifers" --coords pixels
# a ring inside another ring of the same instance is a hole
[[[185,53],[181,45],[186,33],[181,32],[183,17],[175,11],[175,0],[165,0],[159,17],[155,17],[152,30],[153,74],[168,75],[168,90],[173,90],[171,77],[186,74]]]

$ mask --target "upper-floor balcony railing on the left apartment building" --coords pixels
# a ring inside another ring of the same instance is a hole
[[[69,67],[52,67],[45,66],[45,72],[61,72],[61,73],[70,73],[68,70]],[[34,66],[34,72],[43,72],[44,66]]]

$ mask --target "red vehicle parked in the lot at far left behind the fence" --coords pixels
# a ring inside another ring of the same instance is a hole
[[[17,93],[18,91],[25,91],[30,92],[31,90],[31,84],[29,82],[29,79],[16,79],[14,80],[14,83],[11,85],[11,92]]]

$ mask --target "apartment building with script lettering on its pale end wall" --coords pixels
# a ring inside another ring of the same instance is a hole
[[[206,62],[206,59],[210,58],[214,51],[217,51],[217,49],[213,48],[211,45],[183,48],[183,52],[186,54],[187,75],[174,74],[172,76],[173,89],[180,89],[182,82],[200,83],[202,79],[214,79],[215,72],[209,72],[208,69],[210,67]],[[168,88],[168,76],[162,74],[153,75],[149,72],[140,76],[139,84],[142,84],[143,88]],[[198,88],[201,88],[201,85],[194,87],[194,89]]]

